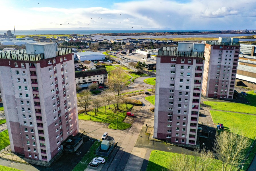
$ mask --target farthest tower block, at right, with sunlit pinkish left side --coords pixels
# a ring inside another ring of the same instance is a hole
[[[238,38],[206,41],[203,96],[233,99],[239,50]]]

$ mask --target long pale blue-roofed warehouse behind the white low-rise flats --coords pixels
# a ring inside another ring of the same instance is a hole
[[[85,61],[85,60],[104,60],[105,55],[100,53],[100,52],[78,52],[77,53],[77,58],[80,61]]]

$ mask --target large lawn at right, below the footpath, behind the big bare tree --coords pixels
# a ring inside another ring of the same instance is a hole
[[[246,115],[232,112],[210,111],[214,124],[223,123],[224,129],[228,129],[239,135],[243,135],[253,140],[256,135],[256,116]],[[250,147],[249,147],[250,148]],[[256,153],[256,145],[254,145],[249,154],[248,163],[251,163]],[[244,164],[244,170],[247,170],[249,164]]]

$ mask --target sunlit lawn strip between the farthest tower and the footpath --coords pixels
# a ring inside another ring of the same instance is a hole
[[[253,106],[252,104],[214,102],[214,101],[204,101],[204,103],[206,105],[210,105],[212,109],[216,109],[216,110],[256,114],[256,107]]]

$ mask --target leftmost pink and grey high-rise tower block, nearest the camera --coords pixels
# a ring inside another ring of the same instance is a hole
[[[0,90],[11,150],[49,162],[61,143],[78,133],[71,49],[28,43],[0,52]]]

